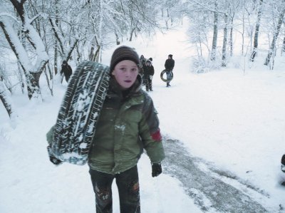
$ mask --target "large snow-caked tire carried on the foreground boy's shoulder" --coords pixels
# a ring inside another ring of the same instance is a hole
[[[93,61],[83,61],[71,76],[51,143],[58,160],[86,164],[109,78],[109,67]]]

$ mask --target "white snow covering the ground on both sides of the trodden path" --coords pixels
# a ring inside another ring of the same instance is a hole
[[[284,211],[279,205],[285,207],[285,187],[278,184],[279,175],[285,179],[280,171],[285,152],[284,59],[276,58],[273,71],[263,66],[264,53],[252,68],[237,57],[228,68],[195,74],[190,72],[194,50],[186,40],[185,28],[179,28],[157,33],[151,41],[138,38],[123,43],[153,58],[154,91],[149,94],[159,113],[162,135],[180,140],[190,155],[207,162],[199,165],[201,170],[209,170],[210,165],[229,171],[267,194],[250,195],[269,212]],[[104,52],[104,64],[108,65],[114,49]],[[175,59],[174,79],[166,88],[160,71],[170,53]],[[43,103],[29,101],[21,93],[11,97],[19,114],[16,127],[0,105],[0,212],[95,212],[88,166],[63,163],[56,167],[48,160],[46,133],[56,122],[66,83],[54,85],[54,97],[44,84],[43,79]],[[175,177],[163,173],[151,177],[146,155],[138,169],[141,212],[202,212]],[[247,190],[237,182],[223,181]],[[204,197],[205,205],[208,202]],[[120,212],[115,183],[113,212]]]

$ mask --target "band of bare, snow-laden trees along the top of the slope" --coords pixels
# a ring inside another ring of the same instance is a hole
[[[108,46],[167,31],[182,24],[183,17],[191,23],[196,72],[226,67],[234,52],[254,63],[265,51],[264,65],[274,69],[275,56],[285,52],[283,0],[1,0],[0,8],[0,97],[11,118],[8,97],[15,88],[29,99],[41,99],[39,78],[45,76],[52,95],[53,77],[63,60],[100,62]],[[242,43],[235,43],[233,35]]]

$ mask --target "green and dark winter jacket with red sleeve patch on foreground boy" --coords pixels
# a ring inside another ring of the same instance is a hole
[[[138,163],[143,149],[151,162],[165,158],[157,112],[139,81],[122,91],[110,79],[90,149],[91,169],[109,174],[124,172]]]

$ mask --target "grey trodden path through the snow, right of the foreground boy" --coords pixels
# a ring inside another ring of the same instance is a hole
[[[268,195],[225,171],[209,169],[202,160],[191,157],[182,142],[165,138],[163,169],[182,182],[186,193],[203,212],[269,212],[250,194]]]

